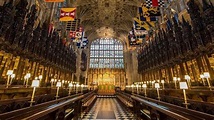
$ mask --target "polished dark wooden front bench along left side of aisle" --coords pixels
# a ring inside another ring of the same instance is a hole
[[[22,108],[11,112],[0,114],[0,120],[34,120],[34,119],[65,119],[73,113],[73,116],[78,114],[81,110],[80,100],[88,95],[93,94],[92,92],[86,94],[75,94],[72,96],[60,98],[57,100],[41,103],[32,107]],[[68,111],[67,111],[68,110]],[[67,112],[66,112],[67,111]]]

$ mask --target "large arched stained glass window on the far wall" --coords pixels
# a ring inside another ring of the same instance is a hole
[[[124,68],[123,44],[113,38],[101,38],[92,42],[90,68]]]

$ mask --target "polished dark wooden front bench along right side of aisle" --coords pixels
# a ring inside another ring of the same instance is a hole
[[[132,95],[131,97],[133,100],[135,100],[135,113],[138,116],[147,119],[165,120],[173,118],[179,120],[214,120],[214,115],[186,109],[136,94]]]

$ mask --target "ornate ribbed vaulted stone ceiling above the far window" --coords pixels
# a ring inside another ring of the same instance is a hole
[[[139,0],[77,0],[76,17],[89,40],[128,35]]]

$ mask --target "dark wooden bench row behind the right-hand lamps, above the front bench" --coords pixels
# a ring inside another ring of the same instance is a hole
[[[144,92],[139,90],[139,95],[145,96]],[[132,91],[126,90],[126,93],[131,94]],[[208,98],[212,98],[213,91],[210,90],[198,90],[198,89],[191,89],[187,90],[187,102],[188,108],[200,112],[204,112],[207,114],[214,114],[214,104],[211,102],[206,102]],[[133,90],[133,93],[137,93],[135,90]],[[171,96],[172,93],[174,96]],[[199,96],[199,100],[195,100],[193,96]],[[192,96],[192,97],[191,97]],[[157,92],[156,89],[147,89],[147,98],[152,98],[152,99],[158,99],[157,98]],[[160,90],[160,100],[163,102],[171,103],[174,105],[178,105],[181,107],[185,107],[183,104],[184,99],[183,99],[183,93],[182,90],[180,89],[162,89]],[[202,101],[204,100],[204,101]]]

